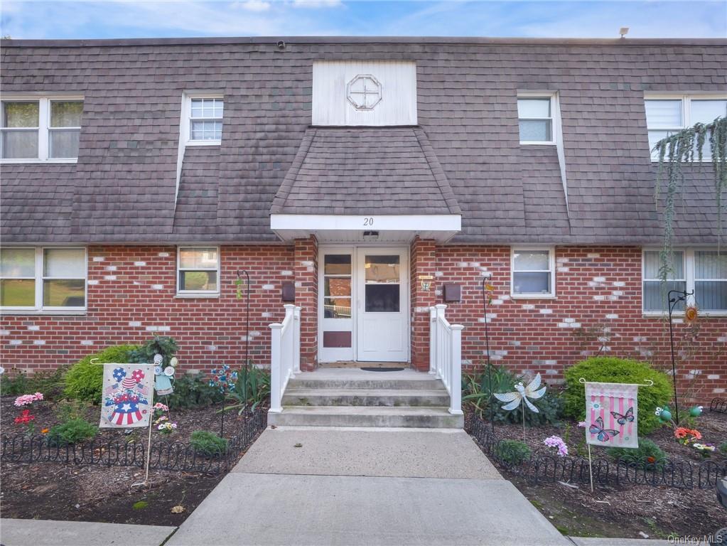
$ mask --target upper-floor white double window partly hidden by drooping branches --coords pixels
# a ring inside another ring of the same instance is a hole
[[[654,151],[654,145],[659,140],[694,124],[709,124],[727,116],[727,95],[647,95],[644,106],[651,160],[658,161],[659,154]],[[709,142],[704,144],[702,158],[710,159]]]

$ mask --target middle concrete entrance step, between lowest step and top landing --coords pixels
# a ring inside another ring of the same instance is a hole
[[[441,389],[287,388],[284,406],[449,406]]]

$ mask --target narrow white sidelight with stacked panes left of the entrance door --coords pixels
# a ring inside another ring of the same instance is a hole
[[[353,249],[326,251],[318,263],[321,362],[353,361]]]

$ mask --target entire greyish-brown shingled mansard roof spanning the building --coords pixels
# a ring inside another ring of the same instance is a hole
[[[5,94],[84,96],[77,164],[2,164],[1,237],[270,241],[270,213],[462,214],[455,242],[659,244],[645,92],[723,92],[727,40],[3,41]],[[417,127],[311,127],[316,60],[410,60]],[[225,97],[187,148],[180,97]],[[558,92],[554,146],[520,145],[515,97]],[[712,166],[687,166],[675,241],[717,237]]]

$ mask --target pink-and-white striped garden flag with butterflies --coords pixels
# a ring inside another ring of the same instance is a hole
[[[638,447],[638,385],[586,382],[586,442]]]

